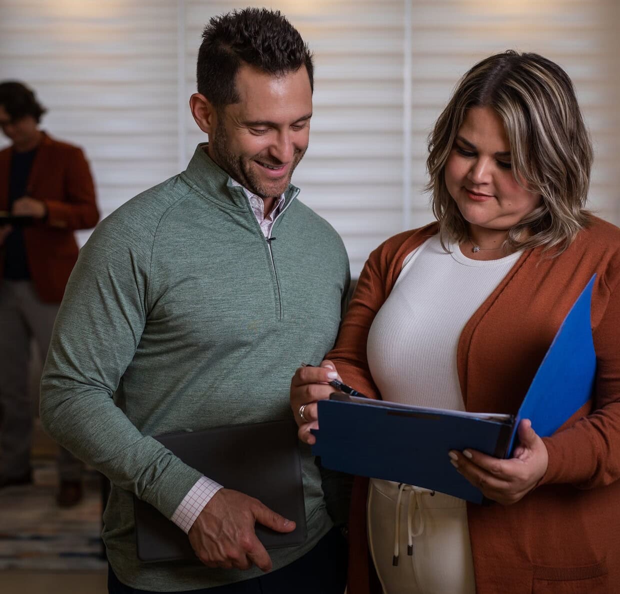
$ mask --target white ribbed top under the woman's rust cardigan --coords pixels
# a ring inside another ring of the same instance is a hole
[[[518,260],[446,253],[435,235],[410,253],[368,334],[368,364],[383,400],[464,410],[456,348],[469,318]]]

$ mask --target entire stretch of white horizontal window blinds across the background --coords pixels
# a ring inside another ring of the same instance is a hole
[[[315,53],[293,181],[342,234],[354,276],[384,238],[430,221],[428,131],[458,77],[508,47],[573,77],[596,144],[593,206],[620,222],[614,0],[0,0],[0,79],[32,85],[45,128],[86,149],[105,216],[206,140],[187,108],[201,29],[248,4],[281,9]]]

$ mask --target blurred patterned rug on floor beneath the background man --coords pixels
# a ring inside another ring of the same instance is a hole
[[[0,570],[105,570],[101,478],[84,474],[84,499],[56,505],[55,464],[37,463],[32,485],[0,489]]]

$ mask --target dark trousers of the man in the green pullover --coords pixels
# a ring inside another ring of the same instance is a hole
[[[332,528],[303,557],[265,575],[216,588],[177,594],[343,594],[347,584],[347,541]],[[108,594],[158,594],[121,583],[108,566]]]

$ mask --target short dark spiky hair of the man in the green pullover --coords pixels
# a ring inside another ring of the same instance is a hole
[[[213,17],[198,50],[198,92],[216,107],[238,103],[235,79],[243,63],[275,76],[306,66],[314,88],[308,45],[280,11],[246,8]]]

